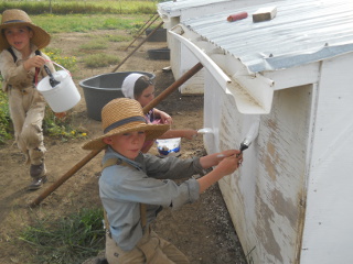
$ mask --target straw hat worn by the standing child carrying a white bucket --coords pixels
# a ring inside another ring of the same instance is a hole
[[[40,26],[32,23],[30,16],[20,9],[8,9],[3,11],[0,24],[0,51],[10,47],[7,37],[3,34],[3,30],[11,26],[29,26],[33,31],[31,43],[33,43],[38,50],[41,50],[51,41],[50,34],[42,30]]]

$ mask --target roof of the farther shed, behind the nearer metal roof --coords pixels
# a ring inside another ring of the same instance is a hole
[[[232,2],[235,0],[176,0],[168,1],[168,2],[161,2],[158,4],[159,10],[163,10],[163,12],[168,13],[171,16],[180,15],[182,10],[190,9],[190,8],[196,8],[201,6],[207,6],[213,3],[222,3],[222,2]]]

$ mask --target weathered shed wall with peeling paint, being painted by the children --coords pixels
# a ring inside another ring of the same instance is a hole
[[[238,148],[252,122],[260,118],[259,135],[245,151],[243,166],[220,182],[245,255],[249,263],[296,263],[304,217],[312,86],[276,91],[270,114],[249,116],[240,114],[234,98],[206,76],[205,103],[212,101],[212,107],[205,105],[205,125],[218,125],[214,141],[205,139],[207,151]]]

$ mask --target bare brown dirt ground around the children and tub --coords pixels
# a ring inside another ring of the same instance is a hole
[[[124,32],[109,31],[109,34],[124,34]],[[107,32],[90,32],[89,36],[104,35]],[[52,47],[60,47],[67,56],[77,56],[79,62],[79,45],[87,41],[84,33],[54,35]],[[111,55],[124,58],[127,53],[114,44],[109,47]],[[157,94],[171,85],[174,79],[172,73],[163,73],[162,68],[169,66],[168,61],[151,61],[147,50],[165,47],[165,43],[146,43],[137,54],[127,61],[119,72],[140,70],[156,74]],[[133,48],[133,47],[132,47]],[[131,48],[131,50],[132,50]],[[85,69],[78,63],[79,70],[74,73],[75,81],[98,74],[110,73],[116,65],[99,69]],[[82,89],[79,88],[81,92]],[[178,91],[171,95],[159,106],[169,112],[173,120],[173,128],[200,129],[203,127],[203,97],[182,97]],[[89,131],[89,138],[100,134],[100,122],[87,118],[84,96],[77,107],[71,112],[77,125]],[[74,140],[61,142],[50,138],[45,139],[47,148],[46,166],[49,183],[45,188],[57,180],[88,153],[81,148],[84,141]],[[87,163],[71,179],[49,196],[40,207],[30,209],[29,204],[42,191],[29,193],[25,186],[30,182],[24,156],[13,142],[8,142],[0,150],[0,263],[33,263],[28,245],[19,241],[19,232],[32,224],[38,218],[60,219],[82,208],[99,207],[97,180],[100,172],[99,153]],[[199,136],[193,141],[182,141],[182,156],[204,154],[203,141]],[[156,148],[154,148],[156,153]],[[164,239],[172,241],[183,251],[193,264],[215,263],[245,263],[237,235],[223,201],[217,185],[201,196],[201,199],[183,207],[181,210],[164,210],[158,217],[154,230]],[[94,260],[85,263],[94,263]]]

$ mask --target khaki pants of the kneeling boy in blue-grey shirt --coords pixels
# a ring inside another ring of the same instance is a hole
[[[109,234],[106,235],[106,257],[109,264],[186,264],[188,257],[173,244],[146,231],[131,251],[122,251]]]

